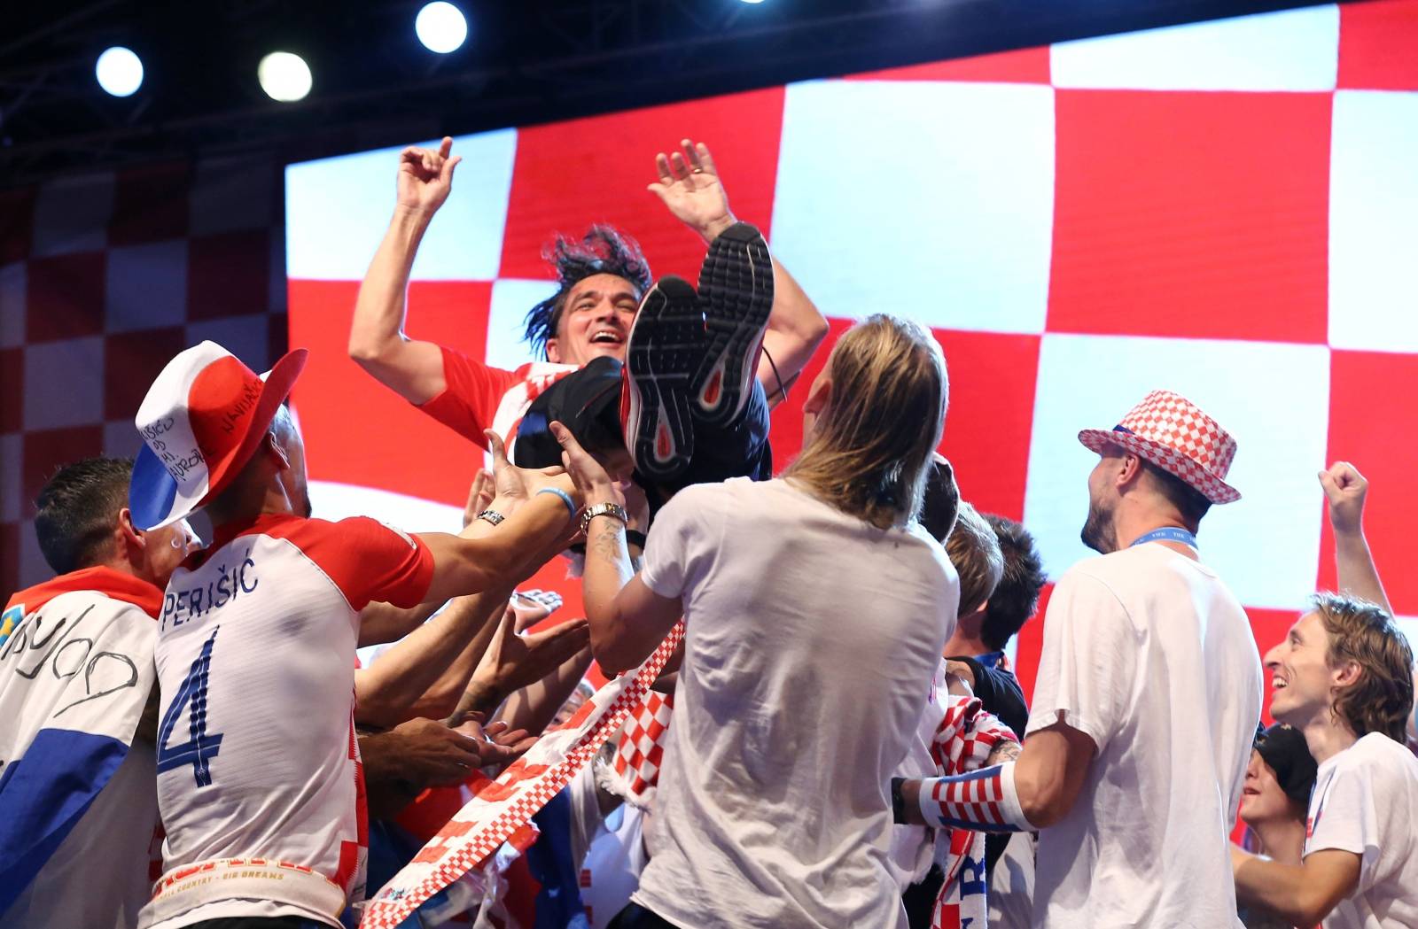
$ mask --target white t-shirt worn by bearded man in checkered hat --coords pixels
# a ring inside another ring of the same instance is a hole
[[[1064,721],[1098,753],[1039,833],[1035,926],[1239,925],[1228,834],[1259,718],[1251,625],[1215,572],[1156,542],[1066,571],[1028,732]]]

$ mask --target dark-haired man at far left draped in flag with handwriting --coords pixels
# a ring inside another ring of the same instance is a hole
[[[147,901],[157,794],[145,709],[162,586],[191,535],[135,525],[132,470],[92,457],[55,472],[34,530],[58,576],[0,615],[0,926],[126,929]]]

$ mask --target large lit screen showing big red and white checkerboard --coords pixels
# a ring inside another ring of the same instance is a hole
[[[519,334],[552,292],[542,245],[591,222],[693,280],[702,242],[645,191],[654,154],[692,136],[832,324],[774,409],[774,460],[801,443],[832,341],[862,314],[903,313],[944,348],[942,450],[963,496],[1022,520],[1051,575],[1090,554],[1096,456],[1079,431],[1167,389],[1235,439],[1225,480],[1242,498],[1207,515],[1201,557],[1262,649],[1334,585],[1316,473],[1336,459],[1371,480],[1380,572],[1418,616],[1404,490],[1418,433],[1394,428],[1418,392],[1414,48],[1418,0],[1313,6],[459,137],[407,330],[501,368],[533,360]],[[316,484],[452,518],[481,452],[345,354],[396,163],[381,150],[286,173],[292,344],[312,350],[295,402]],[[579,615],[559,571],[533,583]],[[1041,626],[1014,656],[1025,693]]]

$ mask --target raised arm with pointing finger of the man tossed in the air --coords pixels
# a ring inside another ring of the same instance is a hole
[[[424,404],[445,387],[442,350],[403,330],[414,255],[462,160],[450,157],[451,149],[452,139],[445,137],[438,150],[408,147],[398,156],[394,218],[360,283],[350,326],[350,358],[411,404]]]

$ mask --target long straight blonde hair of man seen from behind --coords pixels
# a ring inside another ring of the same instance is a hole
[[[940,346],[875,314],[837,341],[827,370],[827,406],[783,476],[879,528],[915,517],[950,397]]]

